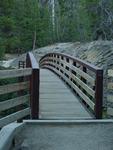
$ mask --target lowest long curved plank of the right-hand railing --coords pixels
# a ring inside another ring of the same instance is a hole
[[[58,74],[60,74],[60,76],[62,76],[66,82],[68,82],[71,87],[73,87],[73,89],[79,94],[79,96],[91,107],[92,110],[94,110],[95,108],[95,104],[90,100],[89,97],[87,97],[74,83],[70,83],[70,80],[64,76],[61,72],[57,71],[55,68],[51,67],[51,66],[47,66],[50,69],[53,69],[55,72],[57,72]]]

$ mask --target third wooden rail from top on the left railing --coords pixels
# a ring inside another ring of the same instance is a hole
[[[4,111],[6,109],[13,108],[15,106],[18,106],[18,105],[28,102],[29,96],[30,95],[20,96],[20,97],[14,98],[14,99],[0,102],[0,111]]]

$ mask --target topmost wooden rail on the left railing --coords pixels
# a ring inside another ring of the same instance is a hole
[[[0,70],[0,79],[28,76],[31,75],[31,73],[32,73],[31,68]]]

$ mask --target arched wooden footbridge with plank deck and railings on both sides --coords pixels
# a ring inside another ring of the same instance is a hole
[[[21,64],[21,63],[20,63]],[[23,119],[91,120],[102,118],[103,70],[61,53],[48,53],[39,64],[32,53],[26,68],[1,70],[0,127]]]

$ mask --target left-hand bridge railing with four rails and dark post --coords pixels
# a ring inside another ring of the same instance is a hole
[[[26,66],[0,70],[0,128],[30,114],[38,119],[39,66],[32,53],[27,54]]]

